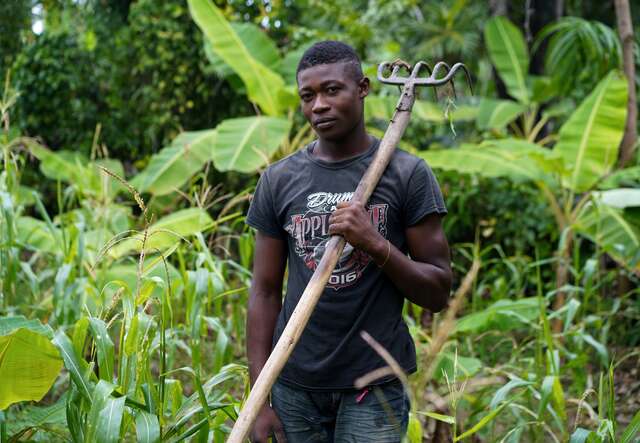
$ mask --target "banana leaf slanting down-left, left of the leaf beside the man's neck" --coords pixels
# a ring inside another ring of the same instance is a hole
[[[151,157],[149,165],[131,180],[139,192],[166,195],[180,188],[211,159],[216,131],[183,132]]]

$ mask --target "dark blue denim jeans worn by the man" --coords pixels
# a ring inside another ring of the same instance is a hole
[[[288,443],[399,443],[409,422],[409,397],[398,380],[367,392],[308,391],[277,381],[271,403]]]

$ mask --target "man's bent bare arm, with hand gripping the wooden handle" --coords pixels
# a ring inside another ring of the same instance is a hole
[[[447,306],[452,279],[449,245],[440,218],[429,214],[405,230],[411,258],[380,235],[364,206],[357,202],[338,205],[329,221],[329,232],[344,235],[378,265],[384,264],[384,272],[413,303],[438,312]]]

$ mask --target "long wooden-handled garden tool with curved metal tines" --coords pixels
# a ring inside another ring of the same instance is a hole
[[[408,77],[400,76],[401,69],[406,70],[410,75]],[[429,75],[421,77],[420,72],[423,70],[426,70]],[[389,71],[391,73],[387,76],[386,74]],[[380,177],[391,160],[396,145],[409,123],[411,109],[415,102],[416,86],[433,86],[435,89],[437,86],[449,83],[455,95],[452,79],[458,71],[464,71],[470,86],[471,78],[469,72],[462,63],[456,63],[449,67],[444,62],[438,62],[432,69],[426,62],[420,61],[411,69],[411,66],[406,62],[397,60],[393,63],[384,62],[378,66],[378,80],[382,83],[398,85],[402,87],[402,92],[391,122],[382,137],[380,147],[360,180],[352,201],[366,203],[377,186]],[[302,293],[278,343],[276,343],[269,359],[262,368],[227,442],[243,443],[246,441],[253,422],[267,401],[273,383],[302,335],[302,331],[307,325],[327,281],[331,277],[345,243],[344,237],[340,235],[333,235],[329,238],[324,255]]]

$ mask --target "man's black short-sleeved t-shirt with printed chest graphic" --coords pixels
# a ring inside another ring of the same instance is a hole
[[[269,166],[246,222],[288,244],[287,291],[273,344],[282,334],[329,238],[329,215],[353,195],[378,149],[339,162],[313,157],[315,143]],[[405,229],[432,212],[446,213],[438,183],[424,160],[396,149],[367,204],[371,222],[407,253]],[[353,387],[356,378],[385,366],[360,337],[365,330],[409,373],[415,347],[402,319],[404,297],[371,257],[347,244],[280,380],[313,390]],[[381,382],[384,380],[381,380]]]

